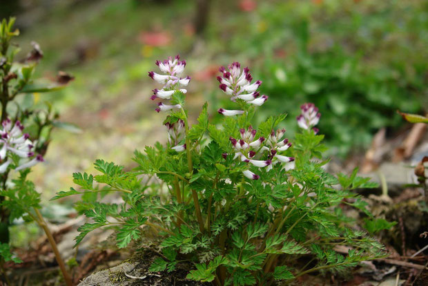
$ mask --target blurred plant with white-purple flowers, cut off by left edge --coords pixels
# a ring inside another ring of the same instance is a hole
[[[43,162],[52,128],[69,127],[68,124],[57,121],[59,115],[49,103],[35,104],[34,93],[63,88],[72,77],[60,73],[57,82],[33,79],[35,67],[43,57],[43,52],[35,42],[25,59],[14,61],[19,53],[19,47],[12,42],[12,37],[19,35],[19,30],[12,28],[14,21],[14,18],[9,21],[3,19],[0,25],[0,265],[3,269],[3,264],[9,260],[15,263],[20,261],[10,253],[10,225],[19,219],[35,221],[46,232],[66,283],[71,285],[55,240],[39,211],[40,194],[36,191],[35,184],[28,180],[28,173],[32,166]],[[3,274],[8,282],[4,271]]]

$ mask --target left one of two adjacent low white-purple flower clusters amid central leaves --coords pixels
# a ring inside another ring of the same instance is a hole
[[[258,168],[264,168],[271,164],[271,160],[255,160],[257,153],[262,150],[261,145],[264,142],[264,137],[259,137],[255,140],[255,134],[257,131],[249,126],[247,129],[240,129],[241,139],[237,140],[230,137],[233,149],[235,149],[235,158],[239,158],[243,162],[247,162]],[[224,156],[225,157],[225,156]],[[259,175],[246,170],[242,172],[246,178],[251,180],[257,180],[260,178]]]

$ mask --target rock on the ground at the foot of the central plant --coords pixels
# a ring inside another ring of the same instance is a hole
[[[211,283],[200,283],[186,279],[186,275],[191,268],[188,263],[180,263],[177,269],[168,273],[150,272],[148,267],[156,258],[150,251],[121,263],[116,267],[97,271],[84,278],[78,286],[205,286]]]

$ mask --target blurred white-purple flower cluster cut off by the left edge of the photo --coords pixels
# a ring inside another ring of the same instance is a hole
[[[6,119],[1,125],[3,129],[0,131],[0,160],[2,162],[0,165],[0,173],[6,172],[8,166],[12,163],[12,160],[8,157],[8,152],[14,153],[20,158],[32,158],[32,160],[19,165],[15,169],[16,171],[30,168],[38,162],[43,162],[43,157],[41,155],[34,157],[35,153],[31,151],[34,146],[31,140],[28,139],[30,136],[27,133],[22,133],[23,125],[19,120],[12,124],[10,119]],[[4,160],[6,160],[6,162]]]

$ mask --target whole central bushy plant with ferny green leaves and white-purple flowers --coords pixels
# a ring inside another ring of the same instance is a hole
[[[135,151],[137,167],[97,160],[99,175],[73,174],[79,189],[57,198],[83,194],[77,208],[93,222],[79,228],[77,244],[99,227],[117,230],[117,247],[131,240],[152,239],[162,249],[151,271],[173,271],[179,261],[194,263],[187,278],[215,285],[267,285],[313,271],[347,271],[362,260],[385,256],[383,246],[344,215],[355,207],[371,216],[351,189],[373,187],[369,179],[324,171],[323,135],[315,125],[320,113],[302,106],[301,132],[293,140],[277,128],[286,115],[252,125],[260,81],[249,68],[221,67],[220,89],[235,110],[220,108],[221,126],[210,123],[207,104],[196,124],[189,124],[184,101],[190,77],[179,57],[157,61],[163,75],[148,75],[163,88],[153,90],[157,112],[166,113],[168,142]],[[276,129],[275,129],[276,128]],[[120,193],[119,204],[100,202],[106,193]],[[335,246],[349,247],[347,255]],[[138,244],[137,244],[138,246]],[[298,262],[298,263],[297,263]],[[299,264],[302,263],[302,266]]]

